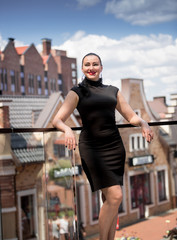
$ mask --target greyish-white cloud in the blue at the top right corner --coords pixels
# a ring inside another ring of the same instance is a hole
[[[176,0],[111,0],[105,12],[133,25],[150,25],[177,19]]]

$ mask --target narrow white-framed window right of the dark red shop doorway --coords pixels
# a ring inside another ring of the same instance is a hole
[[[165,170],[158,171],[159,202],[167,200],[165,186]]]

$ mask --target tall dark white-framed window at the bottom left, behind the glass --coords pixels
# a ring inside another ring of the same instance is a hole
[[[20,191],[18,195],[20,240],[36,239],[37,213],[36,191],[34,189]]]

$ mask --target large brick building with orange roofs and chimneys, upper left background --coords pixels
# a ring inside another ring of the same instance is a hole
[[[64,96],[77,83],[77,64],[66,51],[51,49],[51,40],[42,39],[40,54],[34,44],[15,47],[9,38],[0,52],[1,95],[48,96],[62,91]]]

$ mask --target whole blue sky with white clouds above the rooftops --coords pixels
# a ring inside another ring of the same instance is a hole
[[[0,48],[52,39],[78,60],[94,51],[103,60],[105,83],[144,79],[146,97],[177,92],[176,0],[1,0]],[[176,52],[175,52],[176,51]]]

